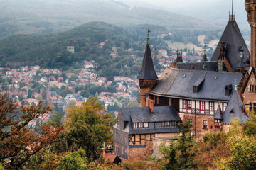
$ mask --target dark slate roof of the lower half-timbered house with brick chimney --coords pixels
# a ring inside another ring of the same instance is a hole
[[[149,107],[142,108],[121,108],[124,121],[132,123],[143,122],[161,122],[161,121],[181,121],[175,108],[172,106],[154,107],[154,113],[151,113]]]

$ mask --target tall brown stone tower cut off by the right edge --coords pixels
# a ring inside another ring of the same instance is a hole
[[[256,67],[256,0],[245,0],[245,10],[247,12],[248,23],[251,27],[251,54],[250,66]]]

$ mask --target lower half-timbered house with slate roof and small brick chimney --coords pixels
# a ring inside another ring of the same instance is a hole
[[[114,153],[124,159],[147,159],[153,138],[178,137],[178,113],[172,106],[121,108],[113,127]],[[139,154],[138,154],[139,153]]]

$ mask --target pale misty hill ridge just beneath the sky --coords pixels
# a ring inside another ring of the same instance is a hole
[[[0,0],[0,39],[14,34],[58,33],[91,21],[126,28],[154,24],[166,28],[215,29],[218,26],[159,9],[130,7],[113,0]]]

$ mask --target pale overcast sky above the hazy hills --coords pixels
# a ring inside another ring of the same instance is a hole
[[[232,0],[118,0],[129,6],[161,8],[174,13],[193,16],[225,26]],[[234,0],[238,25],[249,28],[245,12],[245,0]]]

